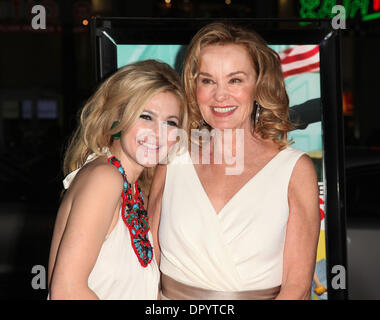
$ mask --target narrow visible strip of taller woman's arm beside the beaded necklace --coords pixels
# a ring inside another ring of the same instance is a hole
[[[162,195],[165,188],[166,166],[157,166],[156,172],[153,177],[152,186],[149,193],[148,201],[148,217],[150,229],[153,235],[153,248],[156,256],[157,264],[160,265],[161,249],[158,238],[158,229],[160,226],[161,217],[161,202]]]

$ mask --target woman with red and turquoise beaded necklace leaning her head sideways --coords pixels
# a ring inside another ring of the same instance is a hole
[[[186,123],[178,74],[154,60],[121,68],[88,100],[64,160],[50,299],[157,298],[159,270],[143,197],[150,181],[143,172],[175,149],[169,137]]]

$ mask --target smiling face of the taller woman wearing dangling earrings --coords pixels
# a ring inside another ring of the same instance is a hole
[[[247,50],[209,45],[200,52],[197,102],[203,119],[217,129],[251,129],[256,72]]]

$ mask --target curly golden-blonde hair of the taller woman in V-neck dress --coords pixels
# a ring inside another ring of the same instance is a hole
[[[257,74],[255,101],[262,107],[257,125],[254,124],[256,108],[253,108],[252,128],[263,139],[271,139],[282,149],[289,145],[287,132],[294,128],[289,120],[289,98],[285,89],[280,57],[254,31],[225,22],[214,22],[200,29],[191,40],[182,73],[189,108],[189,127],[207,128],[202,121],[196,97],[196,80],[200,68],[201,50],[209,45],[236,44],[244,47],[252,58]]]

